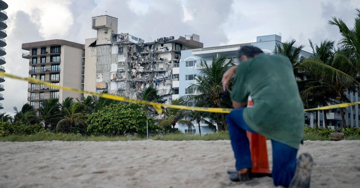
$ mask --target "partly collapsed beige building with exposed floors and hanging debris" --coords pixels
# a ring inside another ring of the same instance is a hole
[[[92,21],[98,34],[85,42],[85,90],[136,98],[152,85],[169,101],[174,93],[172,82],[179,80],[179,73],[173,74],[172,69],[179,67],[181,50],[203,47],[195,34],[190,40],[170,36],[144,43],[129,33],[117,34],[117,18],[104,15]]]

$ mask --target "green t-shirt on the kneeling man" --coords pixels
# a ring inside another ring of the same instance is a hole
[[[299,148],[305,125],[304,108],[289,59],[283,55],[258,54],[240,62],[231,99],[254,106],[244,109],[247,125],[257,133]]]

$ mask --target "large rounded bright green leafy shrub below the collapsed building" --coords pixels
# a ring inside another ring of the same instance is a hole
[[[149,132],[162,130],[153,118],[148,118],[144,106],[129,104],[111,104],[103,110],[89,115],[86,120],[87,131],[92,135],[125,135],[128,133],[146,134],[146,120]]]

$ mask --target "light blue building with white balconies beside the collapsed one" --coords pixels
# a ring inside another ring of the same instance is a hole
[[[226,45],[226,46],[215,46],[215,47],[206,47],[192,50],[182,50],[181,59],[179,62],[179,67],[173,68],[173,76],[179,78],[179,81],[173,81],[172,98],[178,98],[184,95],[196,94],[196,91],[188,89],[190,84],[195,83],[194,78],[199,74],[199,70],[203,67],[201,66],[201,61],[207,61],[208,64],[212,63],[212,57],[218,57],[221,54],[225,54],[227,58],[233,59],[234,64],[238,64],[237,60],[237,50],[241,46],[256,46],[260,48],[266,54],[273,54],[275,49],[275,44],[281,43],[281,36],[278,35],[266,35],[256,37],[256,42],[252,43],[243,43],[235,45]],[[300,53],[300,59],[311,55],[311,53],[302,51]],[[188,106],[195,105],[193,102],[189,102]],[[186,127],[179,126],[179,130],[185,133],[195,133],[198,134],[198,126],[194,123],[194,129],[188,129]],[[212,133],[212,130],[206,127],[206,125],[201,125],[201,133]]]

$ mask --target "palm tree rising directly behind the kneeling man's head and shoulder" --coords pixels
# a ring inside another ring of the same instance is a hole
[[[304,75],[302,74],[300,66],[299,55],[301,50],[305,47],[304,45],[295,46],[296,40],[293,39],[291,41],[286,41],[282,44],[276,43],[274,54],[282,54],[287,56],[290,59],[290,62],[293,66],[294,75],[297,79],[304,79]]]

